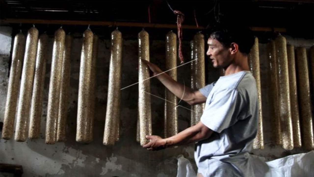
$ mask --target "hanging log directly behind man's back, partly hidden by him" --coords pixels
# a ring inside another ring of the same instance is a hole
[[[257,94],[258,94],[258,129],[256,138],[253,140],[253,149],[264,149],[264,135],[263,135],[263,114],[262,114],[262,91],[261,91],[261,76],[259,67],[259,50],[258,38],[255,37],[255,43],[248,56],[250,70],[256,80]]]

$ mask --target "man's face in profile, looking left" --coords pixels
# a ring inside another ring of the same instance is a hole
[[[226,48],[217,39],[209,38],[207,41],[207,56],[215,68],[225,68],[231,63],[230,48]]]

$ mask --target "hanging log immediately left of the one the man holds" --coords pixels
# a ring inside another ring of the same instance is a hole
[[[111,55],[109,68],[108,99],[104,145],[113,145],[119,137],[120,98],[121,98],[121,66],[122,66],[122,34],[115,30],[111,33]]]

